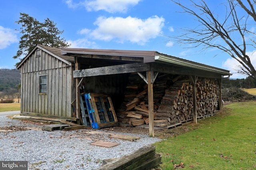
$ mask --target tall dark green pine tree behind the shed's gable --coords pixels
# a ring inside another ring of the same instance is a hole
[[[60,38],[60,35],[64,30],[60,31],[56,27],[54,21],[47,18],[43,23],[39,22],[35,18],[25,13],[20,13],[20,20],[16,21],[20,27],[19,49],[14,59],[22,59],[32,51],[37,45],[48,45],[50,47],[69,47],[70,44],[66,42],[64,38]],[[16,63],[16,66],[19,63]]]

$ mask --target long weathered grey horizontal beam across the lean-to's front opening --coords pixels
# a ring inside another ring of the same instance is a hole
[[[130,63],[130,64],[121,64],[115,66],[105,66],[97,68],[88,68],[84,70],[74,70],[74,78],[78,77],[89,77],[89,76],[102,76],[110,74],[122,74],[130,72],[141,72],[148,71],[149,64],[146,63]]]

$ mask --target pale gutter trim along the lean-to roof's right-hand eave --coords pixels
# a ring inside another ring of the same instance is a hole
[[[181,65],[181,66],[187,66],[187,67],[190,67],[190,68],[196,68],[196,69],[205,70],[205,71],[216,72],[216,73],[222,74],[222,75],[228,75],[228,76],[232,75],[230,72],[225,72],[225,71],[222,71],[222,70],[218,70],[216,68],[209,68],[209,67],[206,67],[206,66],[200,66],[198,64],[188,63],[188,62],[185,62],[185,61],[180,61],[180,60],[177,60],[177,59],[172,59],[172,58],[164,57],[164,56],[161,56],[161,55],[155,56],[155,60],[156,61],[164,61],[164,62],[167,62],[167,63],[178,64],[178,65]]]

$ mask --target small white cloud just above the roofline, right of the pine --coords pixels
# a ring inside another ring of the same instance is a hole
[[[71,43],[70,48],[83,48],[83,49],[98,49],[99,46],[92,41],[88,41],[88,39],[77,39],[75,41],[68,40],[68,43]]]

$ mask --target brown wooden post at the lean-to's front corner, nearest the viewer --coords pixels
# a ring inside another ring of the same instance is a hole
[[[147,71],[148,79],[148,118],[149,118],[149,136],[154,137],[154,103],[153,103],[153,81],[154,72]]]

